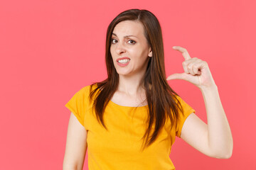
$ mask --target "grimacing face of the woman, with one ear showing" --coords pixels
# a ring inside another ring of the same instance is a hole
[[[118,74],[144,75],[152,52],[144,37],[142,23],[137,21],[118,23],[112,32],[110,52]],[[122,58],[124,60],[120,60]]]

